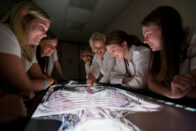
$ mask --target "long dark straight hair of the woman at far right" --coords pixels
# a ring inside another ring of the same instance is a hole
[[[171,81],[179,72],[185,32],[180,14],[172,7],[160,6],[147,15],[143,26],[160,26],[163,50],[152,52],[150,71],[157,81]]]

